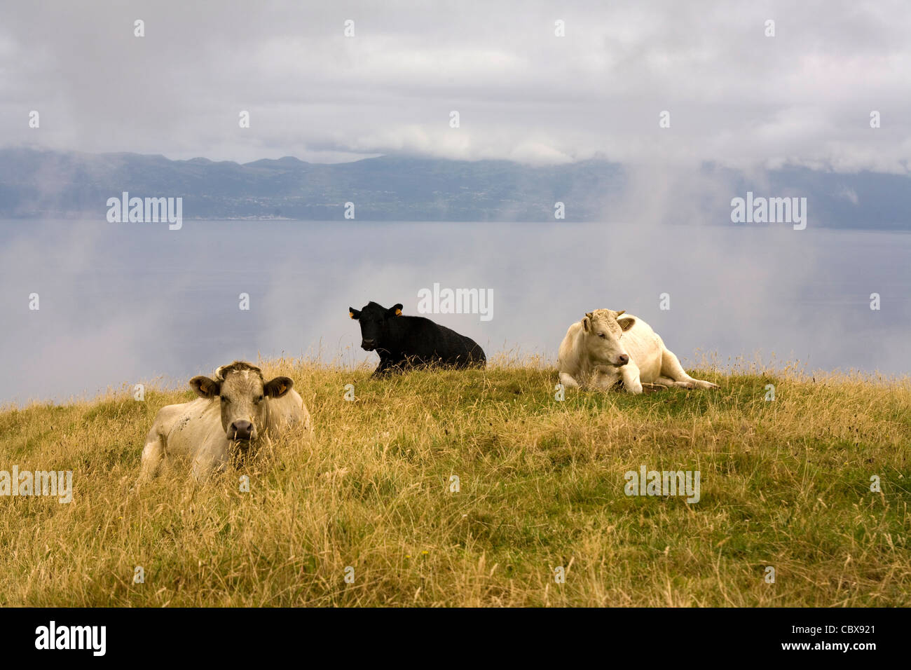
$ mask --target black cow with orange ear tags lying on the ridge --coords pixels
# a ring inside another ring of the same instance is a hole
[[[404,316],[402,304],[386,309],[370,302],[363,309],[348,308],[361,325],[361,348],[375,351],[380,365],[373,376],[402,372],[416,366],[484,367],[484,350],[470,337],[424,316]]]

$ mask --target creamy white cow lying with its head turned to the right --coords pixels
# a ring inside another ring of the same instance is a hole
[[[618,382],[628,393],[642,393],[642,384],[681,388],[718,388],[693,379],[638,316],[596,309],[569,326],[560,344],[558,372],[564,387],[610,388]]]

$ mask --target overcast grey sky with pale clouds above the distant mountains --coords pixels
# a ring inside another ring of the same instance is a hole
[[[9,2],[0,146],[904,173],[909,36],[906,1]]]

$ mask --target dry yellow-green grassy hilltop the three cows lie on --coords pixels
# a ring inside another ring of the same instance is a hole
[[[0,413],[0,469],[74,472],[70,504],[0,498],[0,604],[911,605],[907,378],[702,369],[720,390],[558,402],[553,369],[515,362],[383,381],[261,365],[293,378],[313,437],[192,500],[186,461],[128,493],[189,388]],[[701,500],[627,497],[641,465],[701,471]]]

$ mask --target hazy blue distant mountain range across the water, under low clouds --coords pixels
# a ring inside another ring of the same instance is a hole
[[[730,222],[731,198],[754,191],[806,197],[813,225],[911,230],[906,176],[785,169],[748,178],[711,166],[698,172],[696,183],[715,188],[684,197],[709,222]],[[286,156],[240,164],[15,148],[0,149],[0,218],[103,217],[107,199],[128,191],[182,197],[185,219],[343,220],[350,201],[359,221],[536,222],[554,221],[561,201],[568,221],[609,222],[629,183],[629,170],[606,160],[530,167],[383,156],[324,165]]]

